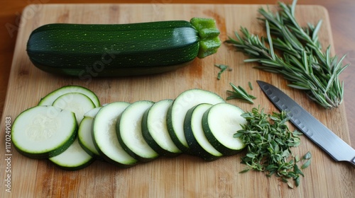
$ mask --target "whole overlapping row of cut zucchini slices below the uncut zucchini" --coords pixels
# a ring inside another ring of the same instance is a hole
[[[175,100],[101,106],[89,89],[64,86],[21,112],[11,139],[24,156],[48,158],[65,170],[79,170],[95,159],[128,168],[180,153],[214,161],[245,147],[233,137],[246,124],[242,113],[202,89],[184,91]]]

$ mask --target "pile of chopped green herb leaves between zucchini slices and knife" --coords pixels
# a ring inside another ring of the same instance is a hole
[[[300,176],[304,176],[297,165],[300,158],[293,156],[290,148],[300,145],[301,133],[290,132],[286,112],[268,115],[254,107],[251,112],[245,112],[242,116],[248,123],[234,134],[234,137],[244,141],[247,148],[246,156],[241,157],[242,163],[247,166],[240,173],[258,170],[265,172],[267,176],[275,174],[283,182],[292,178],[296,186],[300,185]],[[302,159],[310,161],[309,158],[308,152]],[[306,162],[302,168],[307,168],[308,165]],[[293,187],[290,183],[288,186]]]

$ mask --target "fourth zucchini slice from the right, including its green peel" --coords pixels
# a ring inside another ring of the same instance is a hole
[[[169,157],[181,153],[171,139],[166,124],[168,108],[173,105],[173,101],[170,99],[158,101],[146,110],[142,119],[143,138],[159,155]]]

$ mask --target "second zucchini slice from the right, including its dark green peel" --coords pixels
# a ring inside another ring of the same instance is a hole
[[[202,116],[210,107],[212,105],[207,103],[192,107],[187,111],[184,122],[185,137],[191,153],[205,161],[214,161],[223,156],[209,143],[202,129]]]

